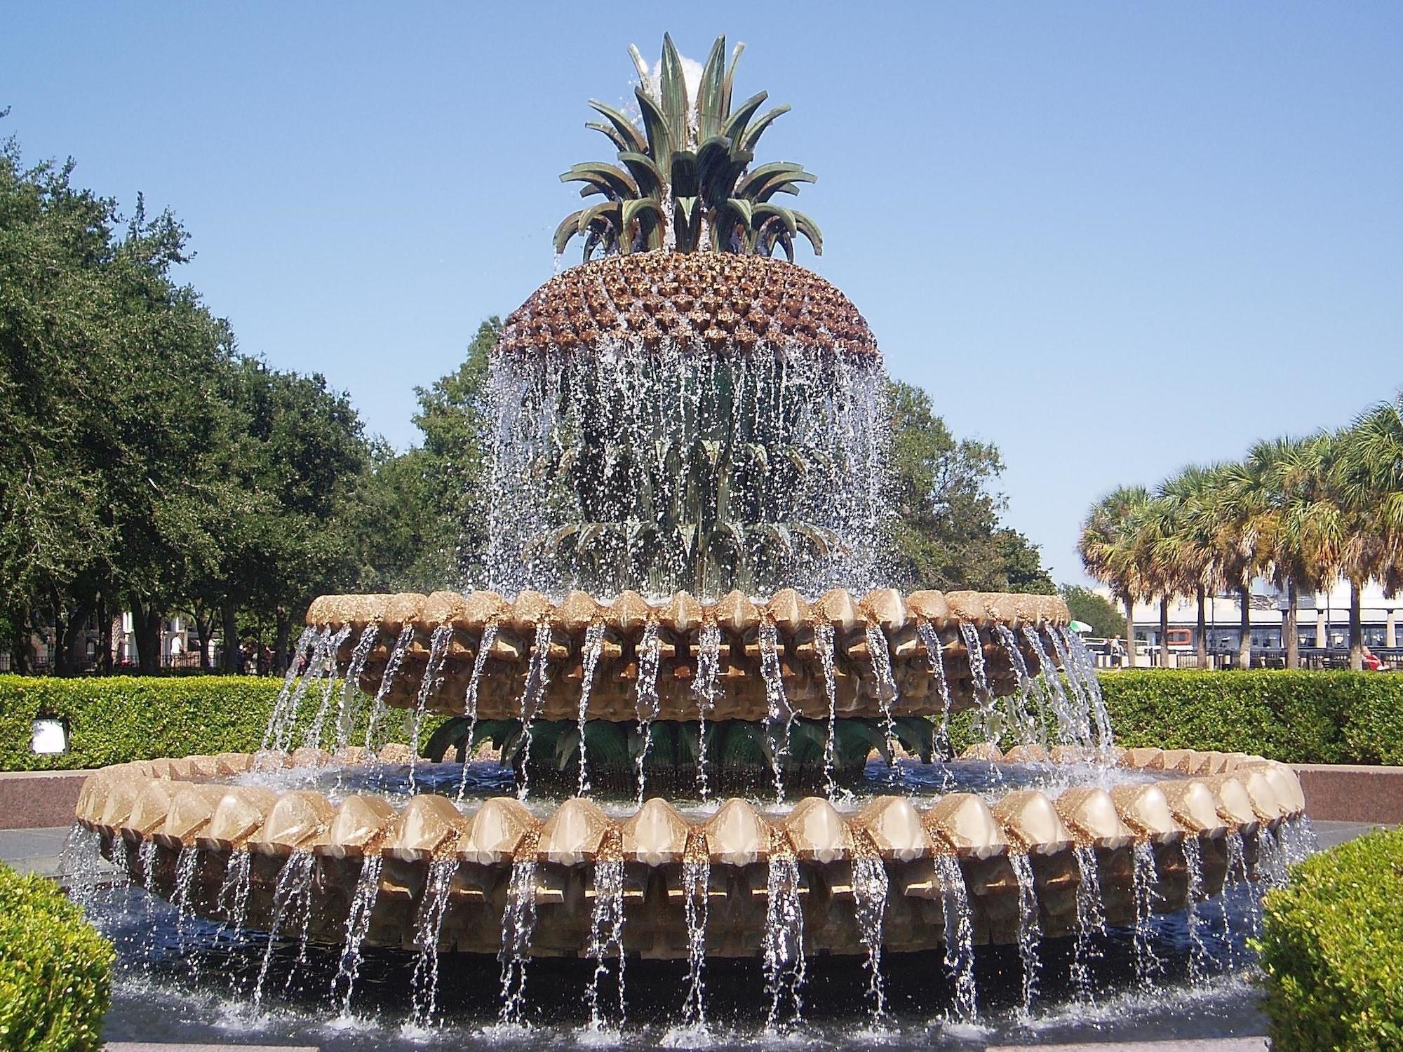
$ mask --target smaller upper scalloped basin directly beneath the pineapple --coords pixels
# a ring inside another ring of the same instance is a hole
[[[765,720],[773,707],[769,658],[784,704],[796,715],[822,720],[831,707],[836,715],[936,715],[969,708],[989,694],[1013,694],[1017,663],[1033,676],[1045,659],[1055,663],[1065,644],[1051,633],[1061,631],[1068,613],[1055,596],[981,592],[904,596],[877,589],[856,599],[833,589],[814,603],[793,591],[760,603],[732,592],[706,605],[686,592],[664,605],[626,592],[607,606],[584,592],[560,603],[537,592],[512,603],[492,592],[435,592],[323,596],[307,623],[324,638],[347,630],[338,637],[337,670],[356,672],[362,690],[401,708],[422,704],[462,715],[471,696],[480,718],[519,718],[537,659],[547,679],[533,710],[537,718],[577,718],[585,669],[593,668],[591,720],[694,720],[707,693],[709,720]],[[709,630],[716,672],[713,689],[699,693]],[[969,652],[974,638],[978,655]],[[651,699],[638,697],[650,647],[655,708]],[[425,690],[435,652],[441,663]],[[394,673],[386,683],[389,669]]]

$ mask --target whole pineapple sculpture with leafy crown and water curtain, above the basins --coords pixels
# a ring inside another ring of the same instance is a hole
[[[584,262],[542,286],[494,355],[488,585],[596,595],[874,582],[881,362],[852,303],[793,264],[818,226],[777,203],[814,182],[753,164],[766,93],[732,108],[742,45],[693,90],[669,36],[631,48],[641,126],[591,102],[617,163],[577,164],[556,231]],[[772,258],[783,251],[786,259]]]

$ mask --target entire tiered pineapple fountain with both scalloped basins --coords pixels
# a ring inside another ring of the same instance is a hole
[[[626,959],[685,962],[700,1025],[709,959],[759,959],[779,1024],[807,961],[866,959],[881,1014],[919,952],[972,1018],[976,945],[1017,948],[1024,1010],[1058,941],[1089,996],[1108,929],[1148,982],[1156,913],[1205,969],[1207,903],[1306,850],[1288,767],[1115,748],[1059,599],[882,586],[881,358],[793,262],[814,177],[756,163],[787,107],[732,102],[739,52],[689,80],[665,38],[638,121],[591,104],[584,261],[491,358],[490,588],[317,599],[262,750],[88,780],[81,828],[181,931],[264,940],[255,1004],[292,938],[345,1010],[410,951],[418,1023],[455,951],[501,961],[508,1023],[536,957],[593,964],[595,1025]]]

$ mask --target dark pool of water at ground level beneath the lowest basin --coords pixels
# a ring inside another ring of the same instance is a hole
[[[875,1018],[863,961],[811,957],[797,1021],[766,1025],[770,999],[759,961],[710,959],[706,1028],[682,1025],[685,961],[629,959],[620,1025],[613,965],[600,985],[602,1025],[591,1028],[586,989],[593,964],[533,959],[528,969],[526,1025],[501,1027],[501,972],[490,957],[439,958],[438,1010],[415,1016],[414,954],[368,951],[354,1014],[331,997],[338,951],[295,937],[269,947],[267,937],[233,937],[217,926],[180,917],[139,888],[98,891],[87,909],[118,947],[107,1041],[278,1041],[327,1052],[415,1048],[620,1046],[860,1046],[982,1048],[999,1042],[1069,1039],[1131,1041],[1260,1034],[1264,1021],[1253,987],[1246,938],[1256,924],[1254,889],[1233,886],[1200,908],[1207,957],[1197,966],[1183,915],[1153,920],[1157,965],[1138,980],[1132,931],[1111,929],[1085,955],[1090,996],[1072,980],[1075,940],[1040,945],[1040,983],[1031,1010],[1021,999],[1016,947],[979,947],[979,1007],[953,1018],[953,985],[939,952],[885,954],[881,973],[887,1011]],[[261,1007],[253,992],[261,983]]]

